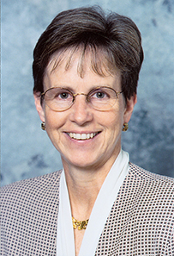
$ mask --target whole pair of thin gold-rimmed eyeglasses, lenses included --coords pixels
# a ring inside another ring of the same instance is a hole
[[[78,95],[86,96],[86,101],[93,109],[99,111],[107,111],[111,109],[117,102],[117,97],[123,91],[117,92],[110,87],[96,87],[92,91],[85,93],[73,93],[66,88],[51,87],[41,94],[41,101],[45,100],[45,104],[52,110],[61,112],[75,103],[75,97]]]

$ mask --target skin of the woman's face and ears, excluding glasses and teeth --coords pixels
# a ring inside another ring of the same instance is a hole
[[[67,52],[67,56],[69,52]],[[54,56],[55,58],[56,56]],[[77,72],[81,53],[73,54],[70,66],[67,69],[65,57],[56,69],[55,61],[50,61],[44,78],[45,91],[51,87],[68,88],[74,93],[87,94],[94,87],[108,86],[115,91],[121,91],[120,73],[105,76],[93,72],[90,54],[87,54],[83,63],[83,76]],[[52,59],[53,60],[53,57]],[[123,94],[117,98],[117,103],[108,111],[93,109],[84,95],[75,98],[70,109],[56,112],[45,103],[40,105],[40,99],[35,94],[36,108],[42,122],[45,122],[46,132],[51,142],[57,148],[63,160],[63,165],[73,165],[80,168],[98,168],[107,163],[113,164],[121,149],[121,134],[124,122],[129,122],[136,97],[131,97],[125,106]],[[86,140],[71,138],[69,134],[83,134]],[[94,134],[93,138],[88,138]],[[96,135],[95,135],[96,134]]]

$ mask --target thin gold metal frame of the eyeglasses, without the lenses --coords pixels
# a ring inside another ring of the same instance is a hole
[[[43,102],[43,100],[45,100],[45,94],[46,94],[46,92],[47,92],[47,91],[51,91],[52,89],[56,89],[56,88],[60,88],[60,89],[62,89],[62,90],[69,91],[69,94],[72,95],[73,100],[72,100],[72,103],[71,103],[71,105],[69,106],[68,109],[70,109],[70,108],[73,106],[73,104],[75,103],[75,98],[76,98],[78,95],[84,95],[84,96],[86,96],[87,103],[90,103],[89,95],[90,95],[91,93],[93,93],[93,91],[99,90],[100,88],[101,88],[101,89],[102,89],[102,88],[107,88],[107,89],[111,89],[112,91],[114,91],[115,94],[116,94],[116,99],[118,98],[118,95],[119,95],[119,94],[122,94],[122,93],[123,93],[123,91],[115,91],[113,88],[111,88],[111,87],[109,87],[109,86],[98,86],[98,87],[95,87],[95,88],[93,88],[91,91],[89,91],[87,94],[86,94],[86,93],[83,93],[83,92],[81,92],[81,93],[73,93],[72,91],[70,91],[69,89],[64,88],[64,87],[51,87],[51,88],[49,88],[49,89],[47,89],[46,91],[44,91],[44,92],[41,93],[41,95],[40,95],[40,101],[41,101],[41,103]],[[45,103],[45,104],[46,104],[46,103]],[[46,105],[47,105],[47,104],[46,104]],[[115,103],[111,106],[111,108],[112,108],[114,105],[115,105]],[[47,106],[48,106],[48,105],[47,105]],[[95,108],[93,107],[93,104],[91,104],[91,106],[92,106],[93,109],[95,109]],[[50,106],[48,106],[48,107],[51,109]],[[51,109],[51,110],[56,111],[56,112],[63,112],[63,111],[66,111],[66,110],[68,110],[68,109],[63,109],[63,110]],[[108,111],[108,110],[110,110],[110,109],[106,109],[106,110],[95,109],[95,110],[98,110],[98,111],[101,111],[101,112],[105,112],[105,111]]]

